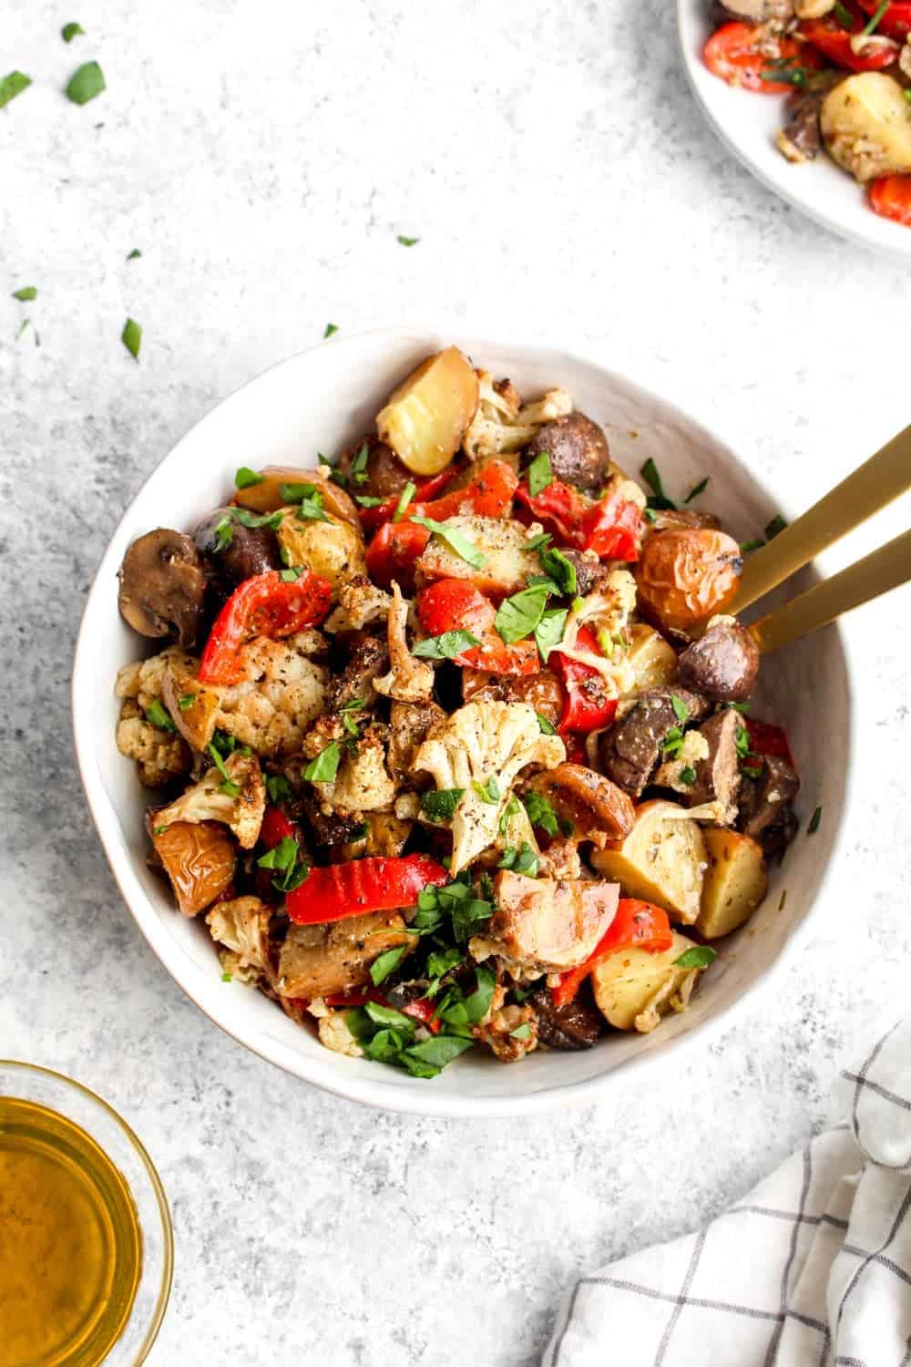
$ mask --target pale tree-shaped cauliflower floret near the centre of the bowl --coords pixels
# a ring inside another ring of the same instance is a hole
[[[527,703],[468,703],[434,727],[414,767],[432,774],[437,789],[464,790],[452,819],[453,875],[497,838],[516,774],[529,764],[553,768],[564,759],[563,741],[541,734]]]

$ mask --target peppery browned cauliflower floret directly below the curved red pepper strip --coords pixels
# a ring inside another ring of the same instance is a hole
[[[217,726],[257,755],[292,755],[324,707],[328,673],[307,656],[317,632],[284,641],[257,637],[242,648],[246,679],[225,688]]]

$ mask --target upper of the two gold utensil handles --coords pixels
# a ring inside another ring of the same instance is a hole
[[[819,551],[860,526],[910,488],[911,427],[907,427],[803,517],[747,559],[736,596],[727,611],[742,612],[789,574],[809,565]]]

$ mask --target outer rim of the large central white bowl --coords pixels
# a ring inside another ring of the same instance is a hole
[[[365,328],[356,332],[346,334],[344,336],[333,336],[331,346],[336,349],[354,347],[366,339],[382,339],[389,340],[403,340],[403,339],[418,339],[419,336],[426,336],[429,339],[438,339],[440,336],[471,336],[475,346],[489,346],[492,350],[494,347],[509,347],[516,353],[530,353],[535,351],[550,351],[560,353],[567,362],[578,364],[582,366],[591,366],[601,370],[606,377],[613,377],[620,380],[624,385],[631,390],[638,390],[639,394],[654,399],[660,403],[668,413],[672,413],[676,418],[683,420],[683,422],[697,435],[705,436],[710,443],[724,448],[729,457],[733,458],[735,463],[743,466],[740,457],[738,457],[733,446],[727,442],[717,429],[707,427],[701,418],[692,417],[683,403],[677,402],[673,394],[668,394],[668,388],[662,388],[661,394],[646,388],[639,384],[635,379],[628,379],[623,368],[613,368],[609,361],[605,361],[601,349],[594,347],[590,351],[580,350],[578,347],[564,346],[559,336],[552,335],[548,339],[538,335],[523,334],[522,338],[512,338],[508,334],[490,335],[479,331],[475,334],[471,328],[470,321],[455,320],[455,319],[441,319],[433,323],[421,321],[407,321],[387,327]],[[72,707],[72,730],[74,730],[74,748],[76,757],[76,767],[79,770],[79,776],[82,786],[89,802],[89,811],[92,813],[92,820],[98,834],[101,848],[104,850],[108,865],[113,874],[115,882],[120,890],[130,915],[139,927],[146,943],[152,949],[153,954],[161,964],[161,966],[168,972],[168,975],[176,982],[183,992],[193,1001],[193,1003],[216,1025],[219,1029],[224,1031],[235,1043],[249,1048],[253,1054],[265,1059],[269,1064],[280,1068],[283,1072],[290,1073],[294,1077],[300,1079],[305,1083],[320,1087],[324,1091],[331,1092],[335,1096],[340,1096],[346,1100],[358,1102],[361,1105],[373,1107],[376,1110],[397,1111],[400,1114],[408,1115],[432,1115],[440,1118],[451,1120],[493,1120],[493,1118],[511,1118],[516,1115],[533,1115],[544,1114],[561,1106],[582,1106],[590,1105],[600,1100],[611,1089],[617,1089],[626,1087],[632,1077],[642,1079],[646,1072],[654,1077],[656,1072],[661,1066],[669,1064],[673,1058],[680,1059],[684,1050],[691,1048],[697,1042],[701,1046],[709,1044],[716,1035],[731,1028],[735,1021],[746,1010],[747,1005],[753,1003],[754,998],[765,991],[772,979],[779,976],[787,966],[794,962],[796,951],[803,945],[809,927],[814,917],[818,915],[818,908],[822,902],[824,895],[828,893],[830,880],[833,879],[833,871],[837,865],[841,854],[844,853],[847,845],[847,831],[851,817],[851,807],[856,800],[850,776],[855,768],[855,745],[856,745],[856,731],[859,719],[859,704],[856,700],[855,688],[855,664],[854,652],[851,648],[850,637],[845,634],[840,622],[833,623],[833,630],[837,634],[839,645],[844,659],[845,679],[847,679],[847,716],[848,716],[848,735],[845,738],[844,746],[844,786],[841,794],[841,812],[839,826],[832,837],[832,846],[829,860],[819,878],[819,883],[815,890],[813,901],[807,906],[806,915],[800,923],[794,927],[788,935],[788,939],[783,945],[781,950],[768,964],[761,969],[757,976],[750,982],[747,987],[740,992],[738,999],[727,1006],[717,1016],[710,1016],[709,1018],[692,1025],[686,1033],[682,1033],[673,1039],[669,1039],[667,1044],[661,1048],[656,1048],[642,1057],[626,1059],[617,1064],[613,1069],[606,1073],[601,1073],[597,1077],[585,1079],[575,1083],[567,1083],[565,1085],[557,1087],[542,1087],[535,1092],[511,1095],[508,1092],[492,1092],[486,1095],[458,1095],[448,1092],[433,1092],[430,1087],[418,1091],[411,1088],[391,1087],[381,1079],[374,1083],[369,1079],[361,1079],[355,1076],[347,1077],[344,1069],[339,1068],[329,1050],[331,1059],[325,1062],[321,1058],[305,1058],[288,1050],[281,1042],[264,1036],[257,1038],[251,1042],[246,1038],[246,1031],[235,1031],[227,1020],[216,1017],[204,1002],[195,995],[193,987],[184,972],[184,964],[182,961],[180,953],[176,946],[171,945],[165,936],[158,932],[158,915],[152,906],[145,890],[135,880],[135,874],[132,868],[132,860],[128,852],[116,848],[113,842],[109,842],[105,830],[109,820],[116,820],[116,811],[111,798],[108,797],[104,783],[100,776],[100,771],[93,764],[93,749],[92,749],[92,703],[90,692],[87,700],[81,699],[81,679],[86,670],[85,659],[87,655],[87,622],[90,617],[94,617],[96,611],[104,608],[105,596],[109,595],[111,578],[108,574],[108,562],[112,559],[113,543],[117,540],[117,534],[123,528],[124,522],[130,518],[132,507],[139,502],[150,484],[150,481],[158,473],[161,465],[168,461],[180,446],[188,440],[195,431],[208,421],[208,418],[225,403],[234,401],[240,394],[244,394],[249,388],[258,384],[266,375],[272,375],[275,370],[283,366],[294,366],[300,364],[303,357],[311,353],[318,353],[326,346],[325,340],[314,342],[311,346],[303,347],[300,351],[295,351],[288,357],[283,357],[275,361],[272,365],[266,366],[264,370],[246,380],[243,384],[232,390],[231,394],[216,401],[195,422],[193,422],[187,431],[178,437],[178,440],[169,447],[168,451],[156,462],[153,469],[149,472],[141,487],[137,489],[134,496],[127,503],[122,517],[117,519],[116,526],[111,532],[108,543],[101,556],[101,562],[92,581],[89,593],[86,596],[85,608],[82,612],[82,619],[79,623],[79,632],[76,636],[76,648],[74,653],[72,677],[71,677],[71,707]],[[665,385],[665,379],[662,377],[662,385]],[[672,381],[671,385],[672,388]],[[757,481],[759,483],[759,481]],[[776,506],[783,513],[783,515],[791,521],[794,515],[794,509],[788,504],[787,498],[780,498],[774,488],[762,480],[762,488],[772,496],[774,496]],[[826,565],[826,555],[817,556],[814,565],[819,569]],[[381,1070],[380,1070],[381,1072]],[[505,1079],[504,1079],[505,1080]]]

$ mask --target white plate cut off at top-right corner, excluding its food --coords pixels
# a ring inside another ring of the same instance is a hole
[[[873,212],[867,191],[825,152],[792,165],[774,145],[785,96],[735,90],[712,75],[702,48],[712,34],[707,0],[677,0],[677,33],[690,85],[725,146],[783,200],[862,246],[911,257],[911,228]]]

